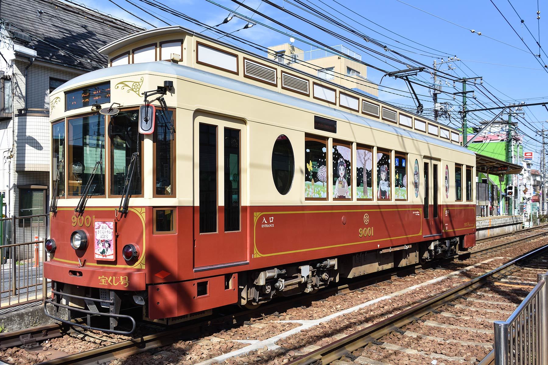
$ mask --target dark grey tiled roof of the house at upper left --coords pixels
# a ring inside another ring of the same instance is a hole
[[[28,34],[25,47],[37,59],[91,71],[107,66],[97,49],[144,28],[58,0],[0,0],[0,18],[9,31]]]

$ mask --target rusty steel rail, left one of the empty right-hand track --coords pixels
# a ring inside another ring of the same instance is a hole
[[[412,306],[411,308],[390,316],[385,320],[374,323],[374,325],[368,326],[356,333],[348,335],[345,338],[336,340],[327,346],[323,346],[317,350],[309,352],[306,355],[302,355],[295,360],[288,362],[287,365],[326,365],[335,360],[339,360],[341,357],[350,354],[352,351],[364,347],[368,343],[418,320],[420,317],[429,314],[432,310],[458,299],[463,294],[469,293],[474,289],[485,285],[493,277],[497,277],[504,272],[509,271],[512,266],[516,265],[518,262],[534,257],[547,250],[548,245],[545,245],[534,251],[523,254],[522,256],[513,259],[486,274],[475,277],[474,279],[455,288],[449,289],[448,291],[438,294],[433,298],[427,299],[423,303]]]

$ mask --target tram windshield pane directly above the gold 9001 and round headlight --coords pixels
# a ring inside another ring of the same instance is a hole
[[[105,195],[105,115],[68,119],[67,150],[68,196],[82,195],[95,165],[89,195]]]

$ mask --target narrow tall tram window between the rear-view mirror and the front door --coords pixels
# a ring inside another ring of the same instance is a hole
[[[154,195],[175,195],[175,122],[173,111],[164,116],[156,111],[156,130],[154,131],[154,158],[156,169]]]

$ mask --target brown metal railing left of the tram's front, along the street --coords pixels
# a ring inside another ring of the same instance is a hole
[[[43,276],[49,215],[0,219],[0,310],[38,302],[50,284]]]

